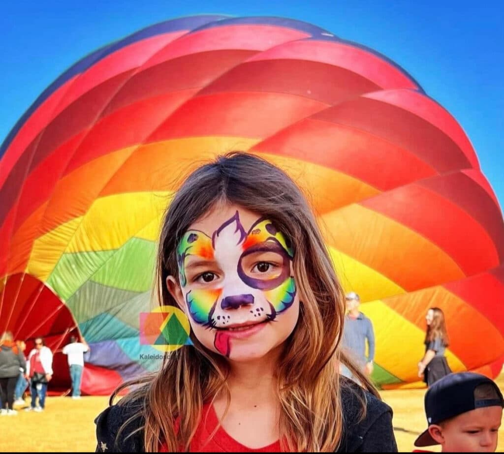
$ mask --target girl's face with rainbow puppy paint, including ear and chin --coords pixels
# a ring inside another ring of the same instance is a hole
[[[166,284],[206,348],[249,361],[294,330],[292,247],[268,219],[236,205],[214,208],[185,232],[177,261],[178,281]]]

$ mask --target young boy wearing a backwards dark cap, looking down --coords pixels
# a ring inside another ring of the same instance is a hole
[[[503,407],[502,394],[490,378],[473,372],[447,375],[425,395],[429,427],[415,446],[440,444],[442,452],[495,452]]]

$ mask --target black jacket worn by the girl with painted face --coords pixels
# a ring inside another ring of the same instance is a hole
[[[366,416],[360,419],[361,405],[357,397],[366,400]],[[392,429],[392,409],[372,394],[345,381],[342,387],[344,409],[343,439],[337,452],[397,452]],[[100,413],[95,419],[98,445],[96,452],[143,452],[144,432],[140,430],[126,438],[122,435],[116,440],[117,431],[130,417],[139,415],[143,404],[130,402],[126,405],[113,405]],[[142,427],[141,416],[129,423],[122,434],[130,434]]]

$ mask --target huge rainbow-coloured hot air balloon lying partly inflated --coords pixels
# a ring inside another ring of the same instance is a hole
[[[0,332],[91,346],[82,389],[154,370],[161,217],[177,176],[231,150],[303,188],[347,291],[374,324],[374,379],[418,381],[424,315],[453,370],[504,354],[504,225],[457,120],[387,57],[304,22],[195,16],[109,44],[54,81],[0,149]],[[260,175],[258,175],[258,181]],[[29,345],[30,347],[30,345]]]

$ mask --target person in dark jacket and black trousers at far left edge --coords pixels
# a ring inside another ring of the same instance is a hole
[[[10,331],[0,338],[0,399],[2,410],[0,414],[16,415],[14,410],[14,390],[18,381],[19,369],[26,370],[26,361],[22,352],[18,350]]]

